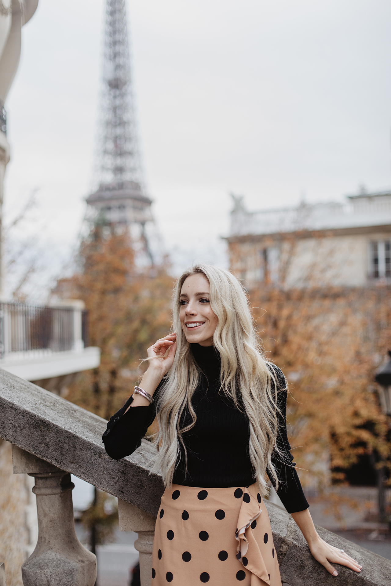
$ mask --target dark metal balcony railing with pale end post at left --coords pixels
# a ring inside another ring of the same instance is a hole
[[[86,313],[77,307],[0,303],[0,358],[82,349],[87,346]]]

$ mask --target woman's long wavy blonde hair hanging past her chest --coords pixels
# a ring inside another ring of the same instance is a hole
[[[161,470],[165,485],[171,486],[181,444],[187,460],[182,434],[196,422],[192,396],[200,381],[200,371],[179,321],[179,297],[186,278],[199,273],[209,281],[210,308],[218,321],[213,345],[220,353],[222,362],[220,393],[231,398],[238,409],[244,408],[249,418],[250,459],[257,485],[263,494],[267,494],[266,468],[277,488],[278,477],[271,458],[273,452],[282,456],[276,442],[276,377],[273,368],[267,366],[242,285],[230,272],[212,265],[196,264],[176,281],[171,329],[176,333],[176,352],[157,403],[159,431],[155,443],[158,455],[153,470]],[[191,415],[192,421],[181,427],[186,412]]]

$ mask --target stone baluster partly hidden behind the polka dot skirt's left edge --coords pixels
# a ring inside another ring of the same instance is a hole
[[[141,586],[151,586],[152,547],[154,545],[156,517],[118,499],[118,518],[120,531],[134,531],[138,534],[134,547],[140,553]]]

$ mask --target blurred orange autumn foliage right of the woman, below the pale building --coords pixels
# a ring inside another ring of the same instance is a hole
[[[391,347],[390,300],[389,287],[250,292],[267,355],[290,383],[288,429],[304,486],[322,489],[330,469],[344,481],[361,454],[389,461],[373,375]]]

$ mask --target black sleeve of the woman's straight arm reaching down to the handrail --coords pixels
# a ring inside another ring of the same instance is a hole
[[[273,368],[277,376],[277,406],[280,409],[280,413],[278,413],[277,445],[283,455],[283,458],[281,458],[281,456],[276,454],[272,460],[279,480],[277,495],[280,497],[281,502],[283,502],[288,513],[297,513],[298,511],[308,509],[310,505],[308,505],[307,499],[302,491],[300,480],[294,468],[295,462],[293,461],[293,455],[290,453],[291,447],[288,440],[286,420],[288,396],[287,382],[281,370],[276,366],[273,366]],[[274,488],[276,488],[269,472],[268,476]]]

